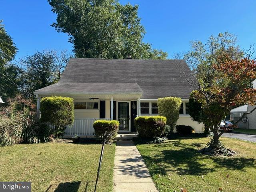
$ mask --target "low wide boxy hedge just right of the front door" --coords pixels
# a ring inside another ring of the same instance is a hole
[[[166,117],[140,116],[134,122],[140,137],[161,137],[165,131]]]

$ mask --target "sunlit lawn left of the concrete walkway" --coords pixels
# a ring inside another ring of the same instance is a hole
[[[101,146],[45,143],[0,147],[0,181],[31,181],[34,192],[91,192]],[[114,152],[114,144],[105,146],[98,192],[112,191]]]

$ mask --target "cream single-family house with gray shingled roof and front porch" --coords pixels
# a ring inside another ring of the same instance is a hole
[[[38,112],[40,98],[67,96],[74,98],[74,124],[66,135],[92,136],[96,119],[120,121],[119,132],[136,132],[136,116],[158,115],[157,99],[182,98],[177,124],[192,126],[203,132],[203,124],[192,121],[188,99],[193,88],[182,77],[191,74],[184,60],[133,60],[72,58],[58,83],[36,90]]]

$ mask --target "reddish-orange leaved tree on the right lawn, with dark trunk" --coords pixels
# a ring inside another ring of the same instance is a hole
[[[214,84],[206,89],[198,86],[193,98],[202,104],[202,113],[212,127],[211,147],[216,153],[221,148],[219,138],[225,131],[218,134],[220,122],[234,106],[256,104],[256,89],[250,88],[250,80],[256,78],[256,62],[248,58],[232,60],[224,55],[212,69],[215,71]]]

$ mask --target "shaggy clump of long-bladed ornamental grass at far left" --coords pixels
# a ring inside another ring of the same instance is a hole
[[[36,122],[32,100],[18,96],[10,100],[0,114],[0,146],[21,143],[40,143],[54,140],[51,129]]]

